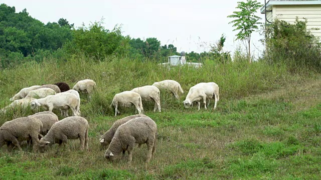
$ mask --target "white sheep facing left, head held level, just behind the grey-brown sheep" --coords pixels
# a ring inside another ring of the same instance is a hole
[[[72,93],[48,95],[45,98],[32,100],[30,105],[32,109],[42,106],[45,110],[49,111],[52,111],[53,109],[65,110],[65,116],[68,116],[68,109],[71,108],[74,116],[80,115],[76,110],[78,109],[79,99],[77,95]]]

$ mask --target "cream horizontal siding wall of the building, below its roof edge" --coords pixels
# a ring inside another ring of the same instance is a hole
[[[273,20],[275,18],[290,23],[299,20],[307,20],[307,29],[321,39],[321,4],[318,5],[273,5]],[[312,28],[319,28],[318,30]]]

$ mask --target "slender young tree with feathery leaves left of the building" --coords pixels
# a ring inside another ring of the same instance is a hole
[[[255,29],[258,29],[257,25],[261,23],[258,22],[261,17],[254,15],[254,13],[262,6],[262,4],[256,0],[246,0],[246,2],[237,3],[238,5],[236,8],[241,9],[241,11],[234,11],[232,15],[228,15],[227,17],[236,18],[229,23],[234,23],[233,27],[236,28],[233,31],[239,30],[236,34],[237,38],[235,40],[240,39],[244,43],[245,48],[248,51],[247,55],[249,62],[251,62],[251,34]]]

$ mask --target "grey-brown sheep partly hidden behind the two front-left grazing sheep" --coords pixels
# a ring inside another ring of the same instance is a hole
[[[46,135],[51,126],[55,122],[59,121],[58,116],[50,111],[38,112],[33,115],[29,115],[29,117],[35,117],[42,122],[43,126],[40,130],[41,135]]]

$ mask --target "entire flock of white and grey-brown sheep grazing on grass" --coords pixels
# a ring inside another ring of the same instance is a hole
[[[78,81],[73,89],[65,82],[55,84],[34,85],[21,89],[10,100],[13,102],[1,109],[6,112],[9,108],[20,106],[38,109],[40,106],[46,111],[38,112],[27,117],[20,117],[5,122],[0,127],[0,147],[7,144],[9,149],[17,147],[21,150],[20,144],[27,140],[33,145],[33,150],[44,152],[52,144],[59,143],[65,145],[67,139],[80,140],[80,149],[88,149],[88,121],[80,116],[80,93],[92,94],[96,88],[96,83],[91,79]],[[170,90],[176,98],[178,94],[184,93],[181,85],[175,80],[163,80],[152,85],[136,87],[130,91],[123,91],[114,95],[110,106],[115,108],[115,116],[120,113],[118,106],[134,105],[138,114],[130,115],[116,120],[111,128],[107,130],[99,139],[102,146],[108,146],[105,151],[105,158],[116,160],[121,158],[125,151],[128,152],[128,162],[132,159],[131,151],[135,143],[140,146],[147,144],[148,162],[156,148],[156,123],[143,114],[142,101],[153,101],[154,111],[161,112],[159,99],[159,88]],[[192,86],[183,101],[185,108],[198,103],[200,109],[201,100],[204,108],[210,103],[210,99],[215,99],[214,109],[219,100],[219,87],[215,82],[201,82]],[[68,117],[68,109],[72,110],[73,116]],[[53,109],[61,111],[65,118],[58,119],[52,112]]]

